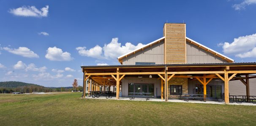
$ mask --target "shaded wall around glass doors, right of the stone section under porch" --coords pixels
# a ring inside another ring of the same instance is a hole
[[[202,85],[198,80],[189,79],[188,80],[188,94],[194,94],[193,90],[196,88],[196,84]],[[221,92],[224,93],[224,82],[222,80],[212,79],[208,85],[221,85]],[[203,85],[202,85],[203,87]]]

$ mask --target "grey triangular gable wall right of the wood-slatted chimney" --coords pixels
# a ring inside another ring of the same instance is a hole
[[[202,48],[196,47],[196,45],[187,42],[187,63],[227,63],[226,60],[213,55],[212,53],[206,52]]]

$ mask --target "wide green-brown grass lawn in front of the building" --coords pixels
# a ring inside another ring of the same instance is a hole
[[[256,125],[256,106],[0,94],[0,126]]]

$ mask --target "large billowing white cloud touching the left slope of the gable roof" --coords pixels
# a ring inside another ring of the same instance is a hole
[[[116,59],[118,56],[128,53],[132,50],[136,50],[144,46],[142,43],[133,45],[130,42],[126,42],[125,45],[118,43],[118,38],[113,38],[111,42],[105,44],[103,47],[96,45],[95,47],[86,50],[86,47],[77,47],[78,53],[82,56],[88,56],[93,58],[104,59]]]

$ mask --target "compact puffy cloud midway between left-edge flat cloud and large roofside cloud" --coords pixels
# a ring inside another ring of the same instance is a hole
[[[62,49],[57,47],[49,47],[48,50],[46,50],[45,58],[53,61],[70,61],[73,58],[71,58],[71,54],[68,52],[62,51]]]

